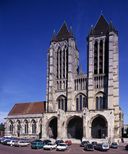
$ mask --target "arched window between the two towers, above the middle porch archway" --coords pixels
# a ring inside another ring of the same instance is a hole
[[[79,94],[76,97],[76,111],[82,111],[83,107],[88,107],[87,97],[84,94]]]

